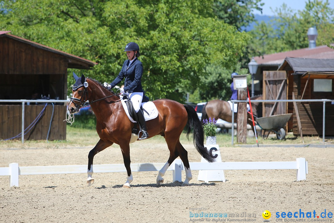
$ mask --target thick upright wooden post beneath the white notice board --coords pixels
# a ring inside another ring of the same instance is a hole
[[[247,100],[247,90],[238,89],[238,100]],[[238,115],[236,120],[236,138],[238,143],[247,143],[247,103],[238,103]]]

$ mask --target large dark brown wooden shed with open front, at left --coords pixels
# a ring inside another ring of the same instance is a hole
[[[67,68],[91,69],[97,63],[75,55],[0,31],[0,99],[65,100],[67,96]],[[37,124],[25,139],[46,139],[53,111],[49,140],[66,139],[66,105],[45,106],[45,103],[25,105],[25,123],[30,123],[45,107]],[[0,139],[8,139],[21,132],[21,103],[0,103]]]

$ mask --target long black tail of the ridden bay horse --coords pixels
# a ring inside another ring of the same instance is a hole
[[[214,159],[210,156],[210,153],[204,147],[204,132],[201,121],[199,120],[195,109],[191,105],[183,105],[188,113],[188,131],[187,138],[189,139],[189,133],[191,129],[194,130],[194,145],[197,151],[206,159],[208,162],[213,162]]]

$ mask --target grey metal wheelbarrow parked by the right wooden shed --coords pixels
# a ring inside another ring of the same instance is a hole
[[[256,118],[256,122],[257,122],[257,125],[259,125],[261,129],[269,131],[268,135],[270,131],[273,131],[276,133],[276,136],[278,139],[283,140],[286,135],[283,126],[287,124],[291,116],[292,116],[292,113],[266,116],[262,118]],[[267,138],[268,138],[268,135],[267,135]]]

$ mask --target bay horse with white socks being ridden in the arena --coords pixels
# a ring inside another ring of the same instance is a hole
[[[73,77],[76,82],[72,87],[73,96],[68,106],[69,113],[79,112],[79,109],[85,106],[85,102],[88,100],[95,113],[97,120],[96,131],[100,136],[99,142],[88,154],[88,186],[94,183],[92,177],[94,156],[116,143],[121,148],[128,176],[123,187],[130,188],[133,176],[130,168],[129,144],[133,123],[126,115],[120,97],[94,79],[85,78],[84,75],[79,78],[74,73]],[[190,105],[182,105],[169,99],[158,99],[153,101],[153,103],[158,110],[158,117],[146,122],[149,138],[155,135],[163,136],[169,149],[169,158],[159,171],[157,185],[159,186],[164,182],[162,177],[168,167],[180,156],[186,173],[186,179],[182,186],[187,186],[192,179],[192,174],[188,161],[188,152],[180,143],[180,135],[186,125],[188,125],[187,137],[189,137],[189,133],[193,129],[193,143],[197,151],[207,161],[214,161],[206,147],[204,147],[204,133],[201,122],[195,109]]]

